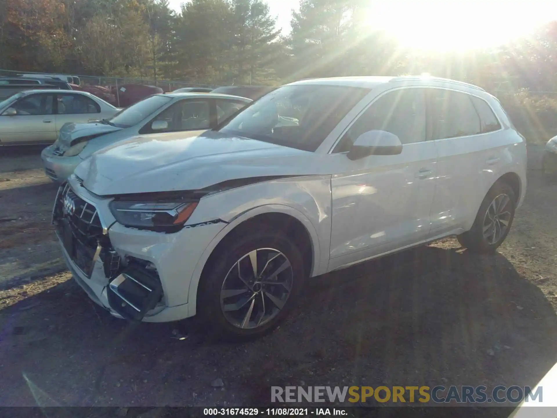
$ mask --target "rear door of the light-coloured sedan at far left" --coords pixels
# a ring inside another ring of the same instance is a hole
[[[98,120],[101,108],[95,100],[77,93],[56,94],[56,132],[66,123]]]

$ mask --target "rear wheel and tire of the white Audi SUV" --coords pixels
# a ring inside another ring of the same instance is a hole
[[[512,187],[505,182],[495,183],[483,198],[470,231],[457,236],[460,245],[472,252],[495,252],[509,234],[515,217],[515,206],[516,197]],[[504,225],[505,222],[507,225]],[[492,226],[487,229],[489,225]]]

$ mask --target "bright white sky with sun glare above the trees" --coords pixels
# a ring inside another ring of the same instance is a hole
[[[170,0],[180,10],[184,0]],[[267,0],[277,27],[290,32],[299,0]],[[401,45],[423,50],[470,50],[527,36],[557,20],[557,0],[370,0],[365,21]]]

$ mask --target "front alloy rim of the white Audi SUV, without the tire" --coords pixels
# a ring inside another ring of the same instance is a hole
[[[221,288],[221,309],[238,328],[257,328],[275,318],[292,290],[290,260],[272,248],[248,252],[228,270]]]

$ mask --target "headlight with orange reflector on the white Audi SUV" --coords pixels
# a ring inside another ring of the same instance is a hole
[[[197,202],[110,202],[110,211],[124,226],[177,232],[192,215]]]

